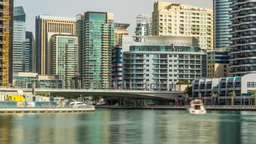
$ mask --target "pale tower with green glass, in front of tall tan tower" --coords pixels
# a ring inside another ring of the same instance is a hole
[[[52,35],[50,50],[51,75],[59,75],[64,88],[71,88],[72,77],[78,76],[77,36]]]

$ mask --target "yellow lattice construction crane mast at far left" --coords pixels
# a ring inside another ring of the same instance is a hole
[[[9,86],[9,0],[3,0],[3,76],[2,86]]]

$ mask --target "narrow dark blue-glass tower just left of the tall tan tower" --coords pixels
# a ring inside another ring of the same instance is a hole
[[[25,72],[35,72],[35,39],[32,32],[26,32]]]

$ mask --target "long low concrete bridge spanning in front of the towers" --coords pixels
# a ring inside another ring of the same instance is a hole
[[[0,94],[17,94],[18,90],[24,94],[32,94],[32,88],[0,88]],[[36,93],[47,92],[54,96],[114,96],[126,98],[175,100],[183,91],[139,91],[139,90],[94,90],[94,89],[52,89],[37,88]]]

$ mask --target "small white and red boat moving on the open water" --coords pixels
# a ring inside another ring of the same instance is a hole
[[[206,114],[205,107],[203,106],[203,101],[198,99],[191,101],[189,106],[189,112],[195,115]]]

